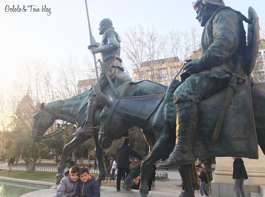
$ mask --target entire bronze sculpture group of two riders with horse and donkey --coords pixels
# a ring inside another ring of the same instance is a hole
[[[100,22],[101,42],[95,42],[89,22],[91,50],[100,53],[102,72],[89,91],[75,97],[44,103],[34,114],[32,138],[39,141],[56,119],[77,124],[74,139],[65,145],[56,183],[63,177],[66,156],[80,143],[94,136],[99,165],[97,182],[105,179],[102,149],[142,129],[150,150],[125,179],[120,192],[130,192],[133,178],[141,173],[141,196],[148,194],[148,172],[158,166],[179,167],[184,190],[194,196],[191,164],[197,158],[238,156],[258,159],[258,145],[265,152],[265,83],[251,82],[259,46],[258,16],[252,7],[245,17],[225,6],[223,0],[192,3],[196,19],[204,27],[200,59],[188,59],[181,81],[167,87],[153,81],[133,83],[124,72],[119,34],[110,19]],[[88,9],[87,9],[88,15]],[[248,23],[248,33],[243,22]],[[246,43],[247,40],[247,43]],[[69,105],[69,103],[73,103]],[[103,108],[102,104],[105,106]],[[56,110],[60,108],[60,110]],[[194,148],[196,147],[196,148]]]

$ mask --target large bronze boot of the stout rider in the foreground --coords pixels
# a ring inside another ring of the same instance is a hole
[[[198,122],[198,109],[195,103],[176,104],[176,145],[168,159],[158,164],[161,168],[173,168],[195,162],[193,138]]]

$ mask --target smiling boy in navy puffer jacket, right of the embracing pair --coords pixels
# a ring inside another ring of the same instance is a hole
[[[75,197],[100,197],[98,183],[87,168],[81,167],[79,179],[81,182],[76,187]]]

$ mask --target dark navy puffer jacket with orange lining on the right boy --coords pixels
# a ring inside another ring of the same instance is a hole
[[[82,181],[76,187],[75,196],[77,197],[100,197],[100,190],[97,181],[93,176],[83,183]]]

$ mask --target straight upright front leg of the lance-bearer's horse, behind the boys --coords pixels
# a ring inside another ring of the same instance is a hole
[[[94,141],[96,145],[95,154],[98,160],[98,176],[96,181],[98,182],[99,186],[101,186],[101,181],[105,180],[106,178],[104,162],[103,162],[103,151],[98,143],[98,135],[94,135]]]

